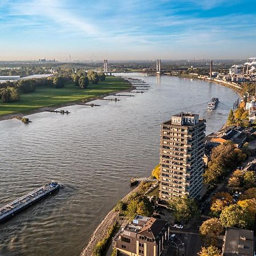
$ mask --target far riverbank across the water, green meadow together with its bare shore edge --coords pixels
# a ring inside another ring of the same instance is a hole
[[[115,93],[130,92],[135,87],[120,77],[106,77],[99,84],[90,84],[85,90],[73,83],[65,85],[64,88],[39,87],[33,93],[22,94],[20,101],[9,104],[0,104],[0,121],[11,119],[14,116],[24,117],[43,112],[44,110],[55,110],[71,105],[84,105],[89,101],[100,100]]]

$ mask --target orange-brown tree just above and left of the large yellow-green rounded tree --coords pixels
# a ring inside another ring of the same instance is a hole
[[[227,192],[218,192],[212,199],[212,205],[210,206],[210,210],[213,216],[220,216],[221,211],[232,204],[233,198]]]

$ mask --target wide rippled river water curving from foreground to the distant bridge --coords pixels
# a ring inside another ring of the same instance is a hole
[[[0,224],[0,255],[79,255],[106,213],[159,160],[160,123],[187,110],[207,119],[207,134],[225,123],[237,93],[206,81],[144,76],[151,88],[121,101],[38,113],[26,125],[0,122],[0,206],[51,180],[62,187]],[[126,93],[127,94],[127,93]],[[220,104],[208,112],[207,102]]]

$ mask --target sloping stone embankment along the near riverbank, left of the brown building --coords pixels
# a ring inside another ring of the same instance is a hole
[[[125,197],[123,197],[122,200],[127,200],[128,197],[131,195],[131,193],[136,192],[138,189],[139,189],[139,187],[134,188],[133,191],[131,191]],[[113,224],[117,220],[118,216],[119,216],[118,212],[114,212],[113,209],[110,210],[110,212],[107,214],[107,216],[104,218],[104,220],[102,220],[100,225],[98,225],[97,228],[94,230],[92,236],[90,237],[88,244],[84,247],[80,256],[92,256],[93,255],[94,247],[97,245],[98,242],[100,242],[107,236],[109,229],[113,226]]]

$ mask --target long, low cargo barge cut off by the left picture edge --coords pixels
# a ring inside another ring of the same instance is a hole
[[[19,199],[5,205],[0,208],[0,222],[6,221],[8,218],[13,217],[16,213],[20,212],[30,205],[35,204],[37,201],[43,199],[44,197],[51,195],[52,193],[60,189],[60,184],[52,181],[42,187],[35,189],[34,191],[28,193]]]

